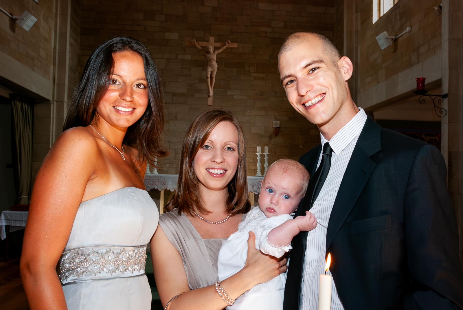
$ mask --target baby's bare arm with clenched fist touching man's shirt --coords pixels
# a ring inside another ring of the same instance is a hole
[[[309,231],[317,226],[315,216],[309,211],[270,230],[267,240],[277,247],[287,246],[300,231]]]

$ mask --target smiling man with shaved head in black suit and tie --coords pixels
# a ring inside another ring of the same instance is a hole
[[[278,68],[288,101],[322,141],[300,158],[311,181],[295,216],[312,208],[318,225],[293,239],[284,310],[317,309],[327,253],[332,310],[463,309],[438,149],[367,117],[350,96],[352,63],[324,36],[289,36]]]

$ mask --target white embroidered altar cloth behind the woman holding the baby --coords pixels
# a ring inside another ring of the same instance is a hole
[[[248,192],[260,193],[263,177],[248,177]],[[145,174],[146,190],[170,190],[177,187],[178,175],[176,174]]]

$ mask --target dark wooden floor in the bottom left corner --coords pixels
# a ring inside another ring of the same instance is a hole
[[[29,309],[19,276],[19,258],[0,262],[0,300],[1,310]]]

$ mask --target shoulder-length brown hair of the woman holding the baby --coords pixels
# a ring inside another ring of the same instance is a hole
[[[232,123],[238,132],[238,167],[232,180],[228,183],[227,212],[235,215],[250,210],[243,128],[232,112],[222,108],[214,108],[197,115],[188,128],[181,147],[177,188],[165,207],[166,211],[178,209],[179,214],[181,212],[191,214],[190,206],[194,206],[200,213],[210,213],[201,204],[201,199],[205,197],[200,197],[198,191],[199,181],[194,173],[193,159],[200,147],[206,143],[214,127],[222,121]]]

